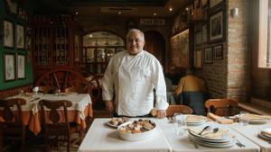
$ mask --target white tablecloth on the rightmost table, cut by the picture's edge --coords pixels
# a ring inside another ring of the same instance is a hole
[[[266,140],[259,139],[257,137],[257,134],[260,130],[271,128],[270,121],[266,124],[248,124],[246,126],[242,126],[239,123],[233,123],[230,125],[230,127],[234,130],[237,130],[240,134],[256,143],[261,148],[261,152],[271,152],[271,144],[268,143]]]

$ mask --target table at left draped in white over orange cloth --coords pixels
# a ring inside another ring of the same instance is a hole
[[[59,94],[17,94],[8,98],[22,98],[26,104],[22,106],[23,124],[28,126],[29,130],[37,135],[42,130],[40,106],[41,100],[68,100],[72,106],[68,108],[68,119],[70,122],[76,122],[81,129],[87,127],[86,118],[93,117],[93,110],[91,105],[91,98],[89,94],[77,93],[59,93]],[[46,111],[46,109],[45,109]],[[62,112],[62,111],[59,111]],[[63,114],[61,114],[63,115]]]

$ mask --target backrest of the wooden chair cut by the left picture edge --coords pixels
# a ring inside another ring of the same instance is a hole
[[[0,101],[0,107],[4,108],[2,118],[3,123],[16,124],[23,126],[22,121],[22,105],[25,104],[25,100],[22,98],[13,98]],[[15,111],[12,110],[15,108]],[[1,116],[0,116],[1,117]]]

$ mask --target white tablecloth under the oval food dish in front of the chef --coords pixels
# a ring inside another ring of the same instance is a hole
[[[110,119],[95,119],[79,147],[79,152],[170,152],[171,148],[157,125],[154,137],[142,141],[120,139],[117,129],[107,126]],[[153,119],[157,124],[157,121]]]

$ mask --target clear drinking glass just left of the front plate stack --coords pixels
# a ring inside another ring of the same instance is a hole
[[[180,136],[185,133],[186,121],[182,113],[174,113],[174,130],[176,135]]]

